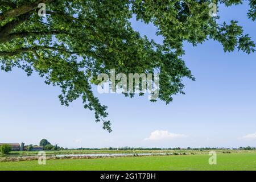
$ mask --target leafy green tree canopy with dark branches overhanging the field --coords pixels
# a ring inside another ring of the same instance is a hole
[[[45,16],[38,14],[39,3],[46,4]],[[219,16],[209,15],[211,3],[231,6],[242,0],[0,0],[1,69],[38,72],[46,84],[60,86],[61,105],[81,97],[110,132],[107,107],[92,92],[98,74],[158,72],[158,98],[169,104],[173,95],[184,94],[183,77],[195,80],[182,59],[184,42],[196,46],[212,39],[224,51],[255,51],[236,20],[220,24]],[[247,15],[255,21],[256,1],[249,6]],[[133,30],[133,16],[153,23],[163,43]]]

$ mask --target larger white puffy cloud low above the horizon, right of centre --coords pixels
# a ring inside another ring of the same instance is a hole
[[[145,138],[145,140],[173,140],[177,138],[186,138],[187,135],[169,133],[167,130],[155,130],[150,134],[150,137]]]

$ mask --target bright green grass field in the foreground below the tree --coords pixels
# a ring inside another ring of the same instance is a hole
[[[256,170],[256,153],[218,154],[209,165],[207,154],[99,159],[36,160],[0,163],[0,170]]]

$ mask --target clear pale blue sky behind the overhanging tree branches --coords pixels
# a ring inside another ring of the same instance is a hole
[[[220,22],[238,20],[256,42],[256,24],[245,5],[220,7]],[[132,20],[135,30],[160,42],[156,28]],[[60,89],[44,84],[36,73],[0,72],[0,143],[38,144],[47,138],[63,147],[239,147],[256,146],[256,55],[225,53],[209,40],[185,44],[183,59],[196,81],[184,78],[186,95],[166,105],[147,97],[98,94],[107,105],[113,132],[102,130],[81,100],[69,107]],[[95,89],[96,90],[96,89]]]

